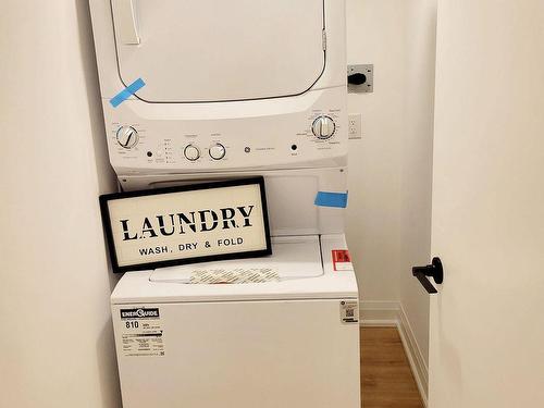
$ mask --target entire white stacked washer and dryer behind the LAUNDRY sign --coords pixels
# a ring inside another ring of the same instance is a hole
[[[90,7],[121,188],[262,175],[273,255],[198,269],[281,277],[191,284],[196,265],[126,273],[111,296],[123,406],[360,407],[345,206],[326,200],[347,194],[345,1]],[[114,108],[110,99],[138,78],[145,86]],[[148,354],[126,345],[131,310],[151,310],[141,318],[160,334]]]

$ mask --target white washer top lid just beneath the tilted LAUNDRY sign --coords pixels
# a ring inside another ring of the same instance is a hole
[[[272,254],[265,258],[237,259],[218,262],[194,263],[161,268],[151,272],[151,282],[191,283],[200,271],[225,271],[243,274],[246,270],[267,270],[280,281],[316,277],[323,274],[321,247],[318,236],[292,236],[272,238]],[[271,280],[270,282],[277,282]]]

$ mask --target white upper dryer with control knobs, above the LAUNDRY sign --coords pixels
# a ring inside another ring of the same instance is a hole
[[[123,188],[139,176],[346,165],[344,0],[89,1]]]

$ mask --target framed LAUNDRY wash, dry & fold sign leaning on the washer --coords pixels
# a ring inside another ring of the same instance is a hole
[[[263,177],[100,197],[114,272],[272,254]]]

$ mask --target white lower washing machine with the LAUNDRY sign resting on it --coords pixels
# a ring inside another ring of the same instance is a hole
[[[357,283],[331,258],[344,237],[272,245],[270,258],[121,280],[112,313],[125,408],[360,407]],[[275,269],[281,281],[187,283],[218,268]]]

